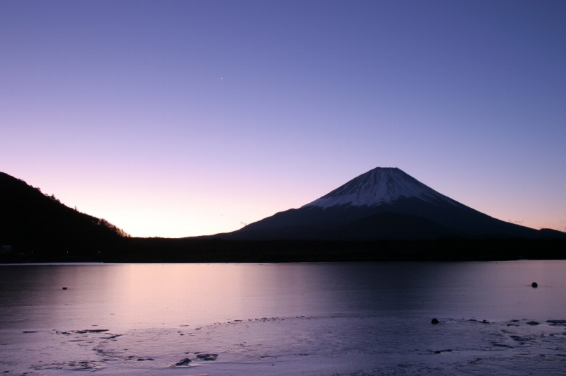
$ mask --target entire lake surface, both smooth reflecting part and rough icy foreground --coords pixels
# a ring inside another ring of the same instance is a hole
[[[564,370],[562,261],[0,266],[0,375]]]

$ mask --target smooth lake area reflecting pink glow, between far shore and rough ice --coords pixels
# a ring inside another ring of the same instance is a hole
[[[322,315],[563,319],[566,262],[0,266],[0,329]]]

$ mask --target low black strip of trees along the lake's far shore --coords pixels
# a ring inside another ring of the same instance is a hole
[[[241,241],[123,237],[98,253],[37,251],[4,262],[381,262],[566,259],[566,240]]]

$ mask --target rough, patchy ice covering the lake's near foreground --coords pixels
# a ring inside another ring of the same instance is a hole
[[[439,321],[275,317],[123,332],[0,331],[0,375],[563,375],[566,369],[565,321]]]

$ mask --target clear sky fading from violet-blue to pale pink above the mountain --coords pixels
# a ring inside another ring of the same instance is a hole
[[[0,170],[134,236],[375,167],[566,230],[566,1],[0,1]]]

